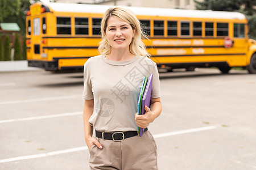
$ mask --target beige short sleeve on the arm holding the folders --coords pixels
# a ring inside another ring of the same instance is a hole
[[[160,97],[160,79],[159,79],[159,73],[158,73],[158,67],[156,66],[156,63],[154,62],[154,69],[153,69],[153,82],[152,82],[152,98],[158,98]]]

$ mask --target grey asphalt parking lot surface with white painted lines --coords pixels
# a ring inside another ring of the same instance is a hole
[[[160,73],[160,170],[256,169],[256,75]],[[82,73],[0,73],[0,169],[89,169]]]

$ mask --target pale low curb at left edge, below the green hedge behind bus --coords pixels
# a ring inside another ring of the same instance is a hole
[[[0,61],[0,72],[7,71],[31,71],[42,70],[40,68],[28,67],[27,60],[22,61]]]

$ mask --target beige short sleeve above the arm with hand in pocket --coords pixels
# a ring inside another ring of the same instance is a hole
[[[84,64],[84,92],[82,93],[82,99],[85,99],[85,100],[93,99],[89,59]]]

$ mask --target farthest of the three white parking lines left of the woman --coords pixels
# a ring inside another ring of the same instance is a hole
[[[28,102],[35,102],[35,101],[47,101],[47,100],[60,100],[60,99],[71,99],[81,97],[79,95],[73,95],[73,96],[57,96],[57,97],[43,97],[43,98],[37,98],[37,99],[24,99],[24,100],[14,100],[14,101],[1,101],[1,104],[15,104],[15,103],[28,103]]]

